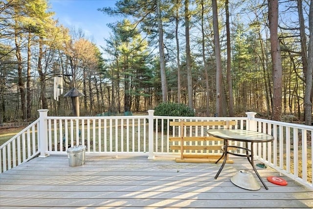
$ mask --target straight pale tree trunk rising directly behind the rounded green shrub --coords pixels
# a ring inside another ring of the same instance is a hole
[[[167,102],[167,80],[165,73],[165,55],[163,46],[163,25],[161,16],[161,0],[156,0],[157,6],[157,30],[158,30],[158,49],[160,53],[160,73],[162,86],[162,101]]]

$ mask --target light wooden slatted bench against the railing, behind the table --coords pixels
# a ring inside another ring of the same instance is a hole
[[[173,126],[173,132],[177,129],[180,130],[179,137],[169,137],[169,141],[173,142],[170,149],[173,150],[173,152],[180,152],[180,158],[176,158],[176,162],[215,163],[217,159],[222,156],[221,147],[224,145],[223,139],[207,136],[206,130],[213,126],[231,128],[231,126],[235,125],[237,125],[235,120],[170,121],[170,126]],[[187,127],[189,127],[189,132],[194,132],[192,130],[198,129],[199,127],[202,130],[206,128],[205,133],[203,133],[205,136],[190,136],[192,133],[189,133],[189,137],[187,137]],[[233,161],[227,159],[226,163],[233,163]]]

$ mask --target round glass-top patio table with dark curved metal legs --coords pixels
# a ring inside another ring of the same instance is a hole
[[[207,130],[207,133],[209,135],[214,136],[214,137],[224,139],[224,146],[222,147],[223,154],[215,163],[218,163],[223,157],[224,157],[224,161],[223,161],[218,173],[214,177],[215,179],[218,178],[221,171],[223,170],[228,155],[246,157],[247,160],[249,161],[249,163],[252,165],[252,168],[253,168],[255,174],[258,176],[258,178],[262,182],[263,186],[266,189],[268,189],[268,187],[266,186],[266,184],[262,180],[260,174],[257,172],[255,165],[253,163],[253,143],[254,142],[270,142],[270,141],[273,141],[274,140],[273,136],[265,134],[265,133],[256,132],[256,131],[239,130],[239,129],[210,129],[210,130]],[[229,141],[245,142],[246,147],[228,145]],[[251,143],[250,149],[248,148],[248,143]],[[233,152],[229,151],[229,148],[237,148],[237,149],[246,150],[246,154],[233,153]]]

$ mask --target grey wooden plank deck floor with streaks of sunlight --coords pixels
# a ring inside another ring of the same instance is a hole
[[[69,167],[67,156],[36,158],[0,174],[0,208],[313,208],[313,191],[289,178],[288,186],[266,180],[279,174],[258,168],[268,186],[250,191],[230,182],[251,166],[244,158],[226,164],[176,163],[146,157],[86,157]],[[257,179],[257,177],[256,177]]]

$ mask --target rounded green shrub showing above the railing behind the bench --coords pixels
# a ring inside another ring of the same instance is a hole
[[[156,106],[155,116],[195,116],[195,112],[184,104],[163,102]]]

